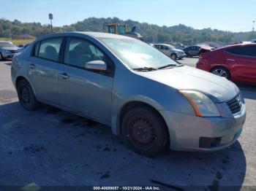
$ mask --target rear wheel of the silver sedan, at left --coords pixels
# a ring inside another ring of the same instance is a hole
[[[17,85],[18,98],[20,105],[29,111],[37,108],[38,101],[34,96],[34,91],[26,79],[20,79]]]

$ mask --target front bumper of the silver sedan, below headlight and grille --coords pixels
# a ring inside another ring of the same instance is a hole
[[[219,104],[228,112],[226,104]],[[246,119],[246,106],[238,114],[225,117],[197,117],[177,112],[161,111],[170,133],[170,149],[213,152],[233,144],[241,134]]]

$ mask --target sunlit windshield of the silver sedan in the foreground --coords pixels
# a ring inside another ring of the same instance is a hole
[[[137,39],[101,38],[101,40],[131,69],[157,69],[167,65],[178,65],[156,48]]]

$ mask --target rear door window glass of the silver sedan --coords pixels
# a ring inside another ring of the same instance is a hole
[[[50,61],[58,61],[61,42],[61,37],[42,40],[39,46],[38,57]]]

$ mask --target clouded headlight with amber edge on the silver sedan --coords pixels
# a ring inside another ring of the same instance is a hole
[[[219,109],[208,96],[194,90],[179,90],[178,93],[187,98],[192,105],[195,114],[200,117],[218,117]]]

